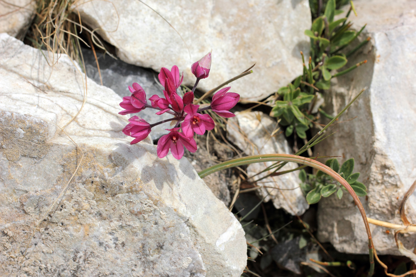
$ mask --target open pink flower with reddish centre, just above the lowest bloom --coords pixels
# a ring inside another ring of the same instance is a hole
[[[183,109],[186,113],[185,120],[182,123],[182,131],[185,136],[193,136],[193,132],[203,135],[205,130],[214,129],[214,121],[209,114],[198,114],[199,105],[187,105]]]

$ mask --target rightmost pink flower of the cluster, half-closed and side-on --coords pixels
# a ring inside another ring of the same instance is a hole
[[[223,117],[233,117],[235,114],[228,111],[229,109],[233,108],[235,104],[237,104],[238,100],[240,100],[240,94],[234,92],[228,92],[231,87],[226,87],[218,91],[212,97],[211,101],[211,109],[218,114],[219,116]]]

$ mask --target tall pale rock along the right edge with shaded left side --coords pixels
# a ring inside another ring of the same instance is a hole
[[[354,158],[354,171],[361,173],[359,181],[368,188],[368,197],[361,198],[367,216],[402,224],[399,204],[416,179],[416,2],[357,0],[354,5],[358,13],[352,17],[354,26],[359,29],[368,23],[362,39],[370,36],[371,43],[349,64],[368,62],[333,80],[325,96],[327,111],[337,114],[361,89],[368,89],[341,121],[357,119],[338,124],[339,132],[319,143],[315,152],[342,156],[340,163]],[[416,194],[406,203],[406,215],[416,223]],[[352,198],[322,199],[318,223],[319,239],[331,242],[338,251],[368,253],[364,223]],[[394,232],[370,227],[379,254],[400,255]],[[414,235],[404,241],[406,247],[414,248]]]

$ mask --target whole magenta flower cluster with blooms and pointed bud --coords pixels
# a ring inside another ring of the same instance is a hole
[[[232,117],[235,116],[229,110],[237,104],[240,95],[233,92],[228,92],[230,87],[221,89],[214,94],[211,104],[207,107],[200,108],[199,105],[193,104],[193,93],[200,79],[208,77],[211,67],[211,52],[206,54],[198,62],[191,66],[191,72],[196,77],[195,85],[192,91],[186,92],[183,96],[179,96],[177,89],[182,84],[182,76],[179,74],[179,69],[176,65],[171,70],[162,67],[158,75],[159,82],[164,87],[163,96],[159,97],[157,94],[146,98],[146,92],[143,88],[133,83],[129,86],[131,96],[123,97],[120,103],[123,111],[119,114],[135,114],[146,108],[156,109],[157,115],[164,113],[172,114],[171,119],[162,120],[154,124],[149,124],[139,116],[133,116],[129,119],[129,124],[123,129],[123,133],[134,138],[130,144],[138,143],[144,140],[151,132],[152,127],[168,121],[176,121],[176,125],[172,129],[166,129],[168,134],[162,136],[157,144],[157,155],[163,158],[171,151],[173,157],[180,159],[183,156],[184,148],[191,152],[197,149],[196,141],[193,134],[203,135],[206,130],[214,129],[214,121],[209,114],[203,114],[202,111],[212,110],[219,116]]]

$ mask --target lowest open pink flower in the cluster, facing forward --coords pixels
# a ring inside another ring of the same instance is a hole
[[[196,152],[196,142],[193,137],[186,137],[183,133],[179,133],[180,128],[166,129],[169,134],[162,136],[157,143],[157,156],[163,158],[172,152],[172,156],[180,159],[184,153],[184,146],[192,153]]]

